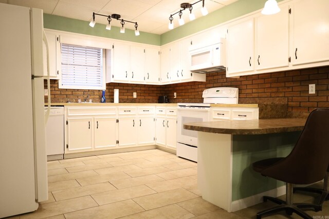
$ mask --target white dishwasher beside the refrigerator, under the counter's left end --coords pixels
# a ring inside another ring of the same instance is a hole
[[[45,107],[45,112],[47,107]],[[64,107],[50,107],[46,125],[47,160],[61,160],[64,156]]]

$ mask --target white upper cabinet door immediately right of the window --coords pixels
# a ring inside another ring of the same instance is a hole
[[[130,47],[126,44],[115,43],[113,49],[113,73],[114,81],[129,81],[130,72]]]

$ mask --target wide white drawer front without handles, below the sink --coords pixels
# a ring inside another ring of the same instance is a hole
[[[68,107],[67,115],[116,115],[115,107]]]

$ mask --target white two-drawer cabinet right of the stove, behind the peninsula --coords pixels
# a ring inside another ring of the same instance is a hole
[[[258,107],[210,107],[211,121],[258,120]]]

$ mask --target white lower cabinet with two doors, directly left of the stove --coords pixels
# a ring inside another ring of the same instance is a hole
[[[176,149],[177,109],[157,107],[156,109],[156,145]]]

